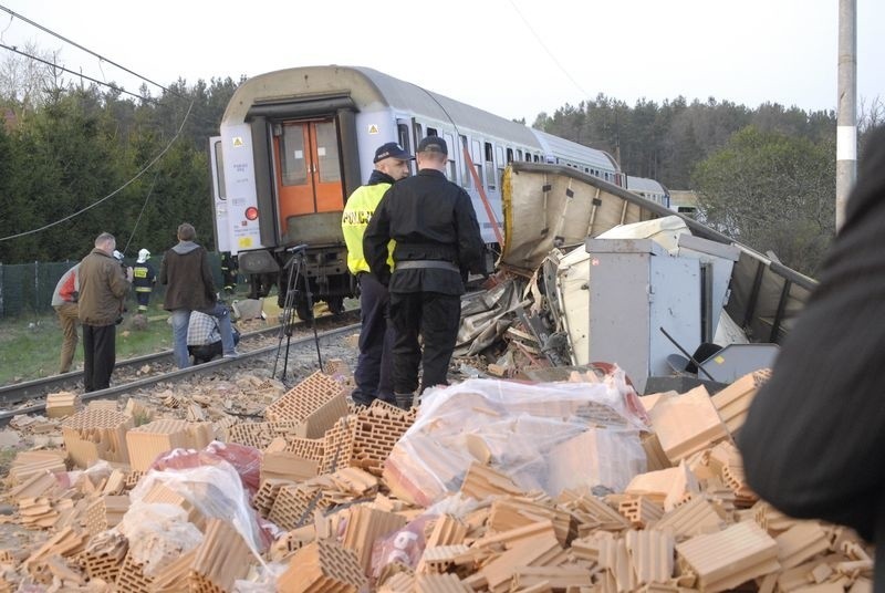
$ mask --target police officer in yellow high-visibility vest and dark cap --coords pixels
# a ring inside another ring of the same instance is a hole
[[[356,362],[354,403],[368,406],[375,398],[393,402],[393,370],[391,351],[394,332],[388,323],[389,296],[363,257],[363,233],[384,193],[399,179],[408,177],[408,162],[415,158],[395,142],[375,150],[375,170],[368,183],[356,188],[347,198],[341,217],[341,229],[347,243],[347,269],[360,282],[360,357]],[[388,258],[388,264],[393,259]]]

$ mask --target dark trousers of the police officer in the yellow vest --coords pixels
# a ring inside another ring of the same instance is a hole
[[[387,287],[368,273],[360,274],[360,357],[353,378],[353,400],[369,405],[379,398],[393,402],[394,330],[388,322],[391,296]]]

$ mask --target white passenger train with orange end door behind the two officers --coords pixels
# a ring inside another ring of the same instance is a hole
[[[315,300],[340,311],[354,294],[341,231],[344,202],[368,179],[375,148],[398,142],[414,154],[425,136],[446,139],[448,177],[470,194],[488,243],[499,242],[501,181],[511,162],[559,164],[626,185],[602,150],[375,70],[294,67],[243,82],[212,138],[216,247],[238,256],[240,272],[277,279],[292,257],[288,249],[306,245],[304,278]],[[299,294],[303,318],[304,291]]]

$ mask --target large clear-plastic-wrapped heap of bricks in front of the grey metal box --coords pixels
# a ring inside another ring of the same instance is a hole
[[[475,461],[525,491],[623,490],[646,470],[635,392],[616,370],[601,383],[470,379],[427,392],[396,444],[384,478],[397,497],[427,507],[460,488]]]

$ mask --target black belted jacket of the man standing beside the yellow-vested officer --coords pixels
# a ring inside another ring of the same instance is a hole
[[[395,267],[402,261],[440,261],[457,270],[395,269],[387,266],[387,243],[396,240]],[[462,294],[461,277],[481,272],[485,246],[470,196],[436,169],[397,181],[382,198],[363,236],[372,273],[391,292]]]

